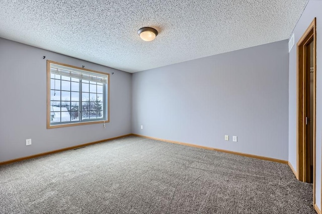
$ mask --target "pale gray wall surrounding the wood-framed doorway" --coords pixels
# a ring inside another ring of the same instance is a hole
[[[322,1],[309,1],[293,33],[295,45],[289,54],[289,157],[296,169],[296,43],[316,17],[316,204],[321,209],[321,141],[322,141]]]

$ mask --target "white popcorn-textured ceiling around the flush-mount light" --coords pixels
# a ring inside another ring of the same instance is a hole
[[[136,72],[288,39],[307,2],[0,0],[0,37]]]

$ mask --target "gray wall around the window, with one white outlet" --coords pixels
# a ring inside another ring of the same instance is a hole
[[[110,123],[46,129],[46,59],[114,72]],[[131,133],[131,74],[0,38],[0,162]],[[25,140],[32,139],[26,146]]]

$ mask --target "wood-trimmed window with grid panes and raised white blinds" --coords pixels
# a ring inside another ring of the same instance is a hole
[[[109,122],[109,74],[47,60],[47,128]]]

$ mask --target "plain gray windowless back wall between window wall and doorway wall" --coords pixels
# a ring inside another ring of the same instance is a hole
[[[132,132],[288,160],[288,60],[284,40],[134,73]]]

